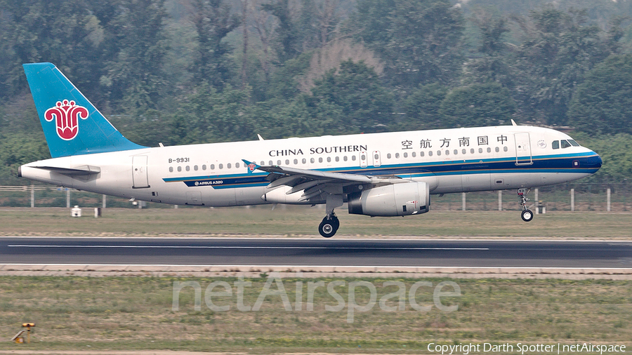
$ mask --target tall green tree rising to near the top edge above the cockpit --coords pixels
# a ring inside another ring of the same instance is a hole
[[[587,22],[586,11],[560,11],[544,6],[530,22],[517,18],[525,40],[515,50],[518,100],[522,114],[550,124],[563,124],[572,94],[588,70],[617,46],[615,34]]]

